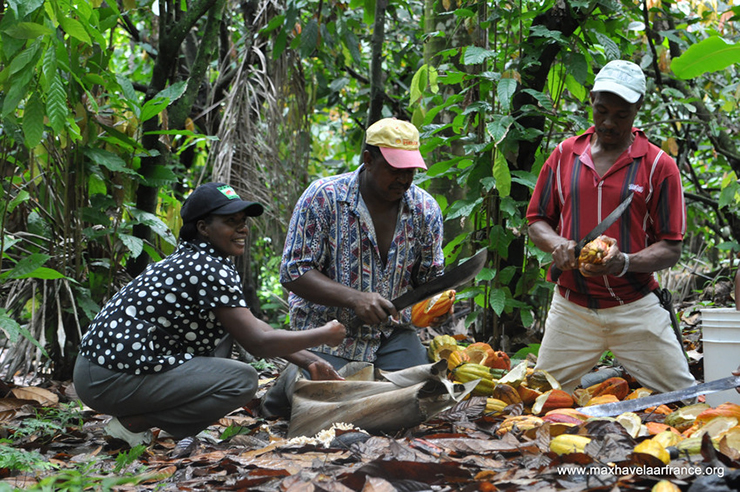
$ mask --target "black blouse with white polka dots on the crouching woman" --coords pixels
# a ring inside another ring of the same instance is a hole
[[[215,350],[226,335],[218,306],[247,307],[239,274],[208,243],[183,242],[106,303],[80,355],[113,371],[167,371]]]

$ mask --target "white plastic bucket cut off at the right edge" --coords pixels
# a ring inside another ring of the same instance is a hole
[[[704,381],[732,376],[740,366],[740,311],[733,308],[701,310],[702,342],[704,345]],[[735,390],[706,395],[713,407],[725,402],[740,404]]]

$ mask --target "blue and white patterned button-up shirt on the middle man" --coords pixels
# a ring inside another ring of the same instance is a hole
[[[312,183],[298,200],[283,250],[280,281],[291,282],[310,270],[363,292],[377,292],[394,299],[444,271],[442,211],[434,198],[411,185],[401,199],[396,229],[383,263],[370,213],[359,187],[360,167],[355,172],[323,178]],[[289,296],[291,329],[307,330],[333,319],[351,324],[351,309],[323,306],[293,293]],[[410,309],[401,324],[410,324]],[[365,325],[348,334],[338,347],[313,350],[350,360],[375,360],[381,337],[391,334],[397,323]]]

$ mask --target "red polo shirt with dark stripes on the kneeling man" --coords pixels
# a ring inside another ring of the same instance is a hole
[[[599,176],[591,159],[593,132],[591,127],[567,139],[550,154],[529,202],[529,223],[544,220],[561,236],[578,241],[634,191],[630,208],[605,233],[617,240],[620,251],[636,253],[663,239],[683,240],[686,207],[675,161],[633,128],[630,148]],[[584,277],[570,270],[558,285],[576,304],[605,308],[636,301],[658,282],[651,273]]]

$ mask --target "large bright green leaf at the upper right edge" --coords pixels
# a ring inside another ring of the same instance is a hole
[[[718,72],[740,63],[740,45],[719,36],[692,44],[681,56],[671,61],[671,70],[680,79],[693,79],[706,72]]]

